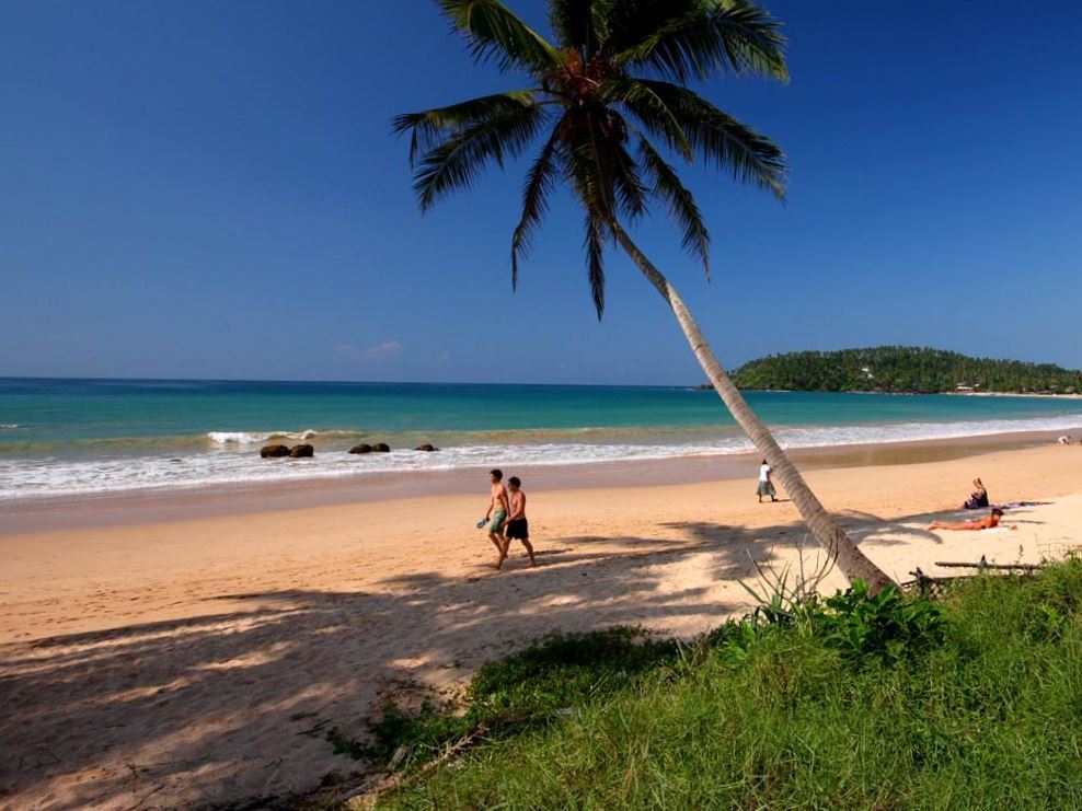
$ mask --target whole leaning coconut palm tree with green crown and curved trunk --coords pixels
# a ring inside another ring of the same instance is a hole
[[[671,309],[692,351],[733,417],[822,546],[850,579],[878,591],[890,579],[845,535],[729,380],[672,283],[624,230],[657,201],[682,231],[683,247],[710,273],[710,234],[691,192],[654,141],[689,163],[697,158],[734,179],[785,193],[785,158],[756,132],[690,90],[691,81],[758,74],[785,81],[780,24],[753,0],[550,0],[557,45],[499,0],[437,0],[479,61],[528,74],[529,86],[394,120],[410,132],[410,160],[422,211],[468,187],[492,164],[503,167],[541,142],[511,236],[511,286],[519,257],[564,182],[582,204],[590,289],[605,310],[605,250],[614,242]]]

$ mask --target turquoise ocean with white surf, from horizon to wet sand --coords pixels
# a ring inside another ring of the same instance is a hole
[[[747,397],[786,448],[1082,432],[1073,398]],[[266,442],[315,456],[263,460]],[[346,453],[359,442],[392,452]],[[714,392],[693,389],[0,379],[0,500],[749,450]]]

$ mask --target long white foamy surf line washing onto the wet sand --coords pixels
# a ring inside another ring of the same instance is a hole
[[[980,437],[1017,431],[1067,431],[1082,429],[1082,415],[1041,419],[999,419],[966,422],[907,422],[875,426],[781,427],[774,436],[783,448],[907,442],[960,437]],[[304,433],[293,436],[301,438]],[[732,432],[669,443],[642,442],[543,442],[483,443],[445,448],[438,453],[408,450],[350,455],[345,448],[320,448],[313,459],[264,460],[241,437],[272,432],[219,432],[238,439],[217,441],[211,450],[185,457],[146,455],[96,460],[0,460],[0,500],[42,496],[120,493],[207,487],[226,484],[257,484],[312,478],[364,478],[376,474],[411,471],[451,471],[537,465],[576,465],[599,462],[649,462],[679,456],[729,455],[752,450],[751,442]],[[314,436],[314,432],[312,435]]]

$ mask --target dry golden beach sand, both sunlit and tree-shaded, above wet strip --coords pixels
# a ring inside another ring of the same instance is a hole
[[[0,808],[309,791],[355,768],[320,730],[361,735],[373,705],[411,684],[451,691],[554,629],[705,630],[747,611],[737,579],[751,558],[791,558],[804,537],[792,503],[756,503],[750,473],[539,493],[541,566],[516,551],[500,574],[473,529],[483,480],[476,497],[0,535]],[[1012,510],[1016,531],[928,532],[959,514],[975,475],[997,501],[1055,503]],[[807,477],[899,579],[935,560],[1059,556],[1082,534],[1078,448]]]

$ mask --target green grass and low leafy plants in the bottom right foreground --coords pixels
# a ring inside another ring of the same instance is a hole
[[[690,647],[542,640],[485,665],[464,715],[377,725],[368,755],[405,744],[414,766],[487,739],[381,807],[1082,807],[1082,561],[873,603],[760,613]]]

